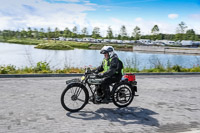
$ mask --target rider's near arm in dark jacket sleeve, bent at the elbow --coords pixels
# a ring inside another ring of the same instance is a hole
[[[118,58],[113,58],[112,61],[110,62],[110,68],[108,69],[108,71],[103,73],[103,77],[113,76],[117,71],[118,63],[119,63]]]

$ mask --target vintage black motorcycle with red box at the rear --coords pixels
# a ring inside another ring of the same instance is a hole
[[[97,102],[97,88],[101,85],[104,79],[98,78],[95,73],[92,73],[90,68],[87,68],[84,76],[78,79],[66,81],[67,87],[61,94],[61,104],[63,108],[70,112],[77,112],[85,107],[89,102],[94,104],[103,104]],[[128,106],[137,92],[137,82],[134,74],[125,74],[122,79],[109,86],[110,99],[109,103],[113,102],[117,107]],[[89,91],[90,90],[90,93]]]

